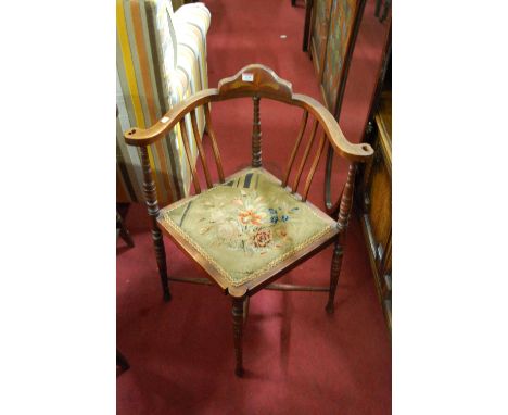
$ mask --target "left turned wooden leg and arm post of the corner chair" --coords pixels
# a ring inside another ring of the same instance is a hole
[[[169,301],[172,294],[169,292],[169,286],[167,282],[167,265],[166,265],[166,250],[164,248],[164,240],[158,229],[157,216],[158,216],[158,203],[155,193],[155,184],[152,178],[152,172],[150,168],[150,159],[148,154],[148,148],[141,147],[141,162],[143,167],[143,191],[144,199],[147,201],[148,214],[152,222],[152,240],[155,249],[155,257],[157,260],[158,275],[161,276],[161,284],[164,292],[164,301]]]

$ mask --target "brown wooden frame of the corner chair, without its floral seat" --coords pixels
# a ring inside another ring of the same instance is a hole
[[[217,141],[215,138],[215,133],[212,125],[212,117],[209,113],[209,103],[225,101],[234,98],[251,97],[253,99],[253,134],[252,134],[252,166],[262,167],[262,133],[261,133],[261,120],[259,120],[259,102],[262,99],[271,99],[294,106],[302,108],[304,110],[301,128],[299,131],[299,137],[295,143],[295,147],[290,155],[288,162],[287,172],[284,174],[284,179],[279,180],[281,186],[295,193],[301,198],[303,203],[306,203],[309,208],[315,211],[318,211],[310,202],[308,202],[307,194],[316,172],[316,167],[319,162],[319,158],[325,150],[325,147],[329,147],[338,153],[344,160],[347,160],[351,163],[347,180],[344,185],[344,190],[340,200],[340,212],[336,223],[327,216],[325,213],[319,211],[319,214],[322,215],[322,218],[330,221],[334,226],[327,235],[320,238],[317,241],[314,241],[310,246],[303,249],[302,251],[296,252],[291,257],[284,260],[282,263],[278,264],[269,272],[262,275],[259,278],[254,279],[253,281],[245,282],[240,287],[233,287],[228,285],[224,278],[220,277],[215,271],[215,268],[209,264],[206,259],[204,259],[189,242],[185,241],[182,238],[179,238],[177,235],[173,235],[167,229],[163,228],[165,235],[174,240],[174,242],[183,250],[194,262],[201,266],[209,276],[209,281],[199,278],[168,278],[167,277],[167,267],[164,250],[164,241],[161,236],[161,228],[157,225],[158,216],[158,204],[155,197],[154,181],[152,179],[152,172],[150,171],[150,164],[143,162],[143,173],[144,173],[144,194],[147,199],[147,206],[149,210],[149,215],[152,217],[152,237],[155,247],[156,260],[158,265],[158,271],[164,288],[164,298],[167,300],[169,298],[169,289],[167,287],[167,280],[175,281],[185,281],[193,284],[215,284],[219,286],[224,292],[232,298],[232,316],[233,316],[233,338],[234,338],[234,350],[237,355],[237,367],[236,374],[241,376],[243,374],[242,365],[242,336],[243,336],[243,324],[246,319],[244,315],[245,310],[247,309],[246,301],[249,297],[258,292],[261,289],[276,289],[276,290],[297,290],[297,291],[326,291],[329,293],[328,303],[326,310],[328,313],[333,313],[333,299],[335,295],[335,289],[338,285],[339,274],[341,269],[343,247],[345,243],[345,230],[347,228],[347,223],[351,214],[352,199],[353,199],[353,189],[354,189],[354,179],[356,164],[358,162],[363,163],[368,161],[372,154],[373,150],[369,144],[354,144],[347,141],[344,135],[339,127],[339,124],[334,120],[333,115],[318,101],[315,99],[300,95],[293,93],[292,86],[289,81],[281,79],[277,74],[270,68],[261,65],[252,64],[243,67],[234,76],[225,78],[219,81],[217,88],[202,90],[188,99],[181,101],[169,110],[157,123],[152,127],[142,129],[142,128],[131,128],[125,133],[125,140],[128,144],[140,147],[141,153],[147,153],[147,146],[156,142],[167,135],[178,124],[183,127],[183,120],[187,114],[190,114],[193,133],[195,135],[196,147],[200,152],[200,160],[203,163],[203,171],[205,173],[206,185],[209,189],[213,185],[209,179],[209,169],[206,165],[206,159],[203,156],[203,148],[201,144],[202,138],[199,135],[195,126],[195,110],[196,108],[203,105],[205,110],[205,120],[206,120],[206,129],[208,137],[211,139],[212,149],[214,152],[214,159],[217,165],[217,171],[219,175],[219,183],[225,181],[224,171],[221,165],[221,159],[218,151]],[[312,128],[312,137],[305,148],[304,156],[297,167],[297,173],[295,179],[293,180],[292,187],[288,187],[288,181],[290,177],[290,172],[295,164],[295,154],[297,148],[301,144],[302,137],[305,131],[305,125],[307,123],[308,116],[314,117],[314,125]],[[317,129],[320,127],[321,133],[317,134]],[[183,135],[185,150],[186,154],[189,154],[189,144],[186,128],[181,128]],[[318,150],[314,158],[312,159],[310,169],[307,174],[305,180],[301,180],[302,173],[305,163],[309,159],[309,151],[312,147],[312,141],[319,137]],[[143,158],[148,160],[148,158]],[[192,181],[194,184],[195,192],[201,192],[201,186],[199,185],[198,175],[195,173],[195,167],[192,165],[190,158],[188,159],[190,164],[190,171],[192,173]],[[264,171],[264,169],[263,169]],[[240,172],[241,173],[241,172]],[[240,174],[237,173],[231,177]],[[265,174],[269,174],[264,171]],[[278,180],[275,176],[274,179]],[[303,184],[302,194],[297,193],[299,185]],[[280,278],[283,273],[297,266],[300,263],[305,261],[307,257],[314,255],[320,250],[325,249],[329,244],[334,243],[335,248],[333,251],[332,266],[330,273],[330,287],[305,287],[305,286],[292,286],[292,285],[281,285],[272,284],[276,279]]]

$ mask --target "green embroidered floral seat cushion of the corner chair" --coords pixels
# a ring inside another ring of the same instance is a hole
[[[291,194],[263,168],[242,171],[170,204],[158,222],[233,287],[269,274],[294,253],[338,232],[331,217]]]

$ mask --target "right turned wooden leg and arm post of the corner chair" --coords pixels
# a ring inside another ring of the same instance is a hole
[[[328,314],[333,314],[336,285],[339,282],[339,275],[341,274],[342,257],[344,255],[345,232],[350,222],[351,206],[353,202],[353,190],[355,187],[356,164],[352,163],[347,172],[347,180],[344,186],[343,194],[341,198],[341,206],[339,210],[339,221],[336,226],[340,234],[336,238],[335,248],[333,250],[332,265],[330,272],[330,291],[328,294],[328,303],[326,311]]]

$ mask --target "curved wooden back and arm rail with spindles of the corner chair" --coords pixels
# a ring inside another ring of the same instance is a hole
[[[344,191],[341,196],[341,213],[339,214],[340,221],[346,223],[347,213],[351,210],[351,198],[353,191],[354,183],[354,172],[356,162],[366,162],[369,160],[372,154],[372,148],[367,143],[354,144],[347,141],[344,137],[339,124],[334,120],[333,115],[318,101],[315,99],[300,95],[293,93],[291,84],[284,79],[281,79],[275,74],[270,68],[253,64],[245,66],[236,75],[225,78],[219,81],[218,88],[212,88],[202,90],[188,99],[181,101],[169,110],[157,123],[152,127],[142,129],[142,128],[131,128],[125,133],[125,140],[128,144],[145,147],[148,144],[154,143],[164,137],[169,130],[172,130],[176,125],[179,124],[182,141],[186,152],[186,159],[189,164],[189,169],[192,175],[192,183],[196,193],[201,192],[201,186],[199,183],[195,164],[192,163],[192,155],[189,149],[189,137],[186,129],[186,116],[190,114],[193,136],[195,139],[196,148],[199,151],[199,156],[203,166],[203,172],[206,179],[206,186],[209,189],[212,184],[212,178],[209,175],[209,168],[206,162],[204,154],[204,149],[202,144],[202,137],[199,134],[196,126],[196,116],[195,111],[199,106],[203,105],[205,121],[206,121],[206,130],[208,133],[212,150],[214,152],[214,159],[217,167],[217,173],[219,176],[219,181],[224,183],[224,168],[223,163],[217,146],[217,140],[213,129],[212,117],[209,113],[209,103],[219,102],[234,98],[251,97],[253,99],[253,127],[252,127],[252,166],[261,167],[262,166],[262,130],[261,130],[261,118],[259,118],[259,102],[261,98],[267,98],[280,102],[284,102],[291,105],[300,106],[303,109],[302,121],[300,124],[299,134],[296,137],[295,144],[292,149],[292,152],[289,156],[287,164],[285,173],[282,179],[282,187],[288,186],[288,181],[291,175],[291,171],[295,164],[296,153],[302,144],[303,138],[305,136],[305,129],[308,122],[309,115],[314,118],[313,126],[310,129],[310,136],[307,139],[307,143],[304,149],[304,153],[299,163],[291,191],[296,193],[299,190],[299,185],[302,180],[302,175],[307,164],[307,161],[310,155],[310,150],[313,144],[316,141],[316,136],[319,136],[317,143],[317,149],[314,156],[312,158],[312,163],[307,176],[304,181],[304,189],[302,191],[302,200],[306,201],[310,185],[316,173],[319,160],[325,150],[325,147],[328,147],[335,151],[340,156],[345,160],[348,160],[352,164],[347,175],[347,181],[344,187]],[[318,134],[318,129],[322,131]],[[350,201],[348,201],[350,200]],[[339,203],[339,202],[338,202]],[[344,203],[344,206],[343,206]],[[350,203],[350,204],[347,204]]]

